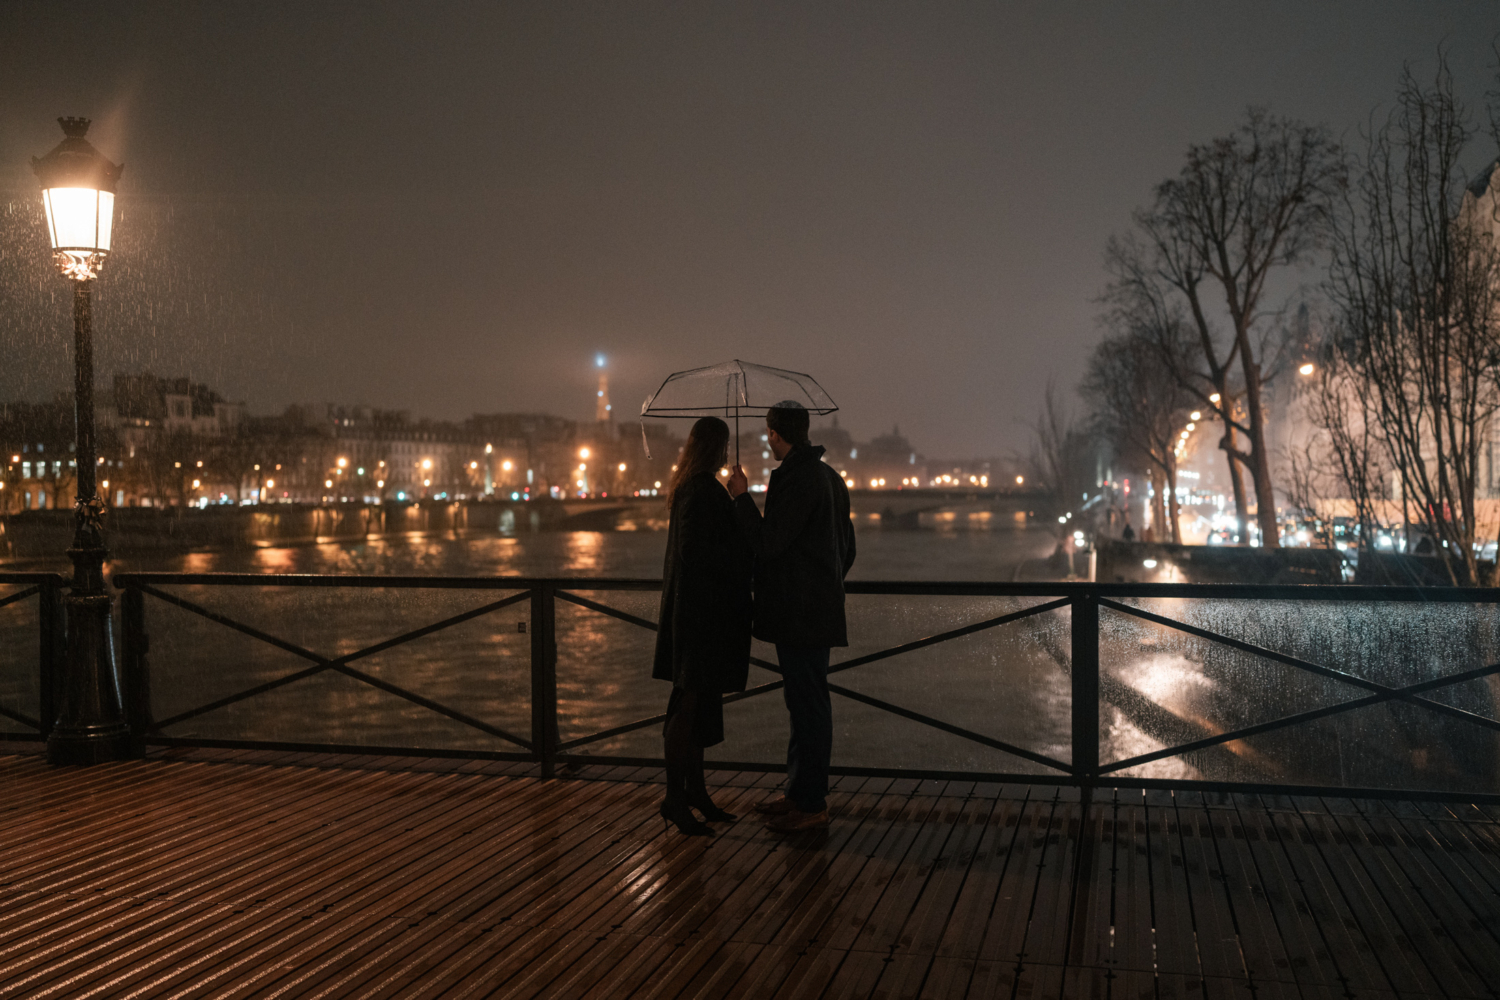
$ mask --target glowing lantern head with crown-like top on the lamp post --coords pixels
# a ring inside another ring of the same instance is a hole
[[[63,277],[87,282],[99,276],[114,232],[114,187],[120,163],[88,144],[88,118],[58,118],[68,136],[46,156],[32,159],[42,181],[46,232]]]

